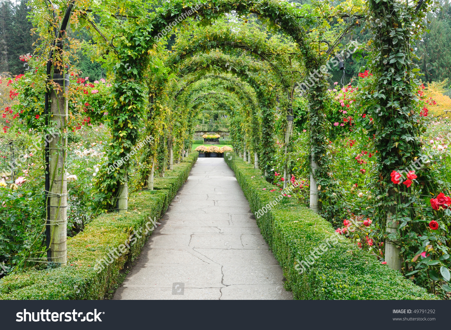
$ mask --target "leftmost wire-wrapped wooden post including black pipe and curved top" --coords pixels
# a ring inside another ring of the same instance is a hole
[[[45,123],[49,130],[45,135],[44,145],[46,248],[47,261],[60,265],[67,264],[67,179],[64,167],[68,116],[68,100],[65,98],[65,93],[69,89],[69,75],[64,73],[62,55],[63,37],[74,3],[75,0],[69,2],[60,28],[54,29],[55,40],[52,42],[46,66],[47,79],[53,83],[53,88],[46,88],[44,105]]]

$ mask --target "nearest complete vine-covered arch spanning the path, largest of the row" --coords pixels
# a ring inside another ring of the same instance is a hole
[[[278,3],[274,1],[230,1],[216,0],[210,3],[198,3],[193,6],[186,6],[183,2],[170,2],[157,10],[157,15],[151,20],[143,20],[137,28],[129,31],[121,38],[118,47],[118,63],[115,66],[116,83],[113,92],[114,110],[110,114],[112,122],[113,140],[111,149],[108,151],[108,165],[120,161],[132,148],[138,139],[139,121],[146,113],[145,95],[146,90],[142,84],[143,68],[153,65],[149,61],[148,51],[158,40],[158,34],[168,26],[175,25],[191,15],[199,19],[211,20],[222,14],[229,12],[237,14],[257,14],[261,19],[268,19],[274,26],[279,27],[284,33],[290,35],[298,44],[301,56],[304,58],[308,71],[317,69],[324,61],[325,54],[317,53],[310,46],[310,41],[306,36],[305,29],[315,22],[313,15],[304,15],[299,18],[288,3]],[[277,22],[277,23],[276,23]],[[277,24],[280,24],[277,25]],[[310,96],[310,123],[312,141],[312,168],[314,171],[325,172],[325,165],[320,157],[325,154],[325,141],[322,130],[325,125],[322,123],[322,109],[326,92],[327,82],[324,76],[314,84],[309,92]],[[316,172],[312,173],[313,185],[316,186]],[[97,181],[97,188],[101,192],[100,200],[111,203],[111,199],[116,195],[126,193],[127,163],[124,163],[114,172],[101,173],[102,179]],[[311,205],[318,211],[318,191],[311,191]]]

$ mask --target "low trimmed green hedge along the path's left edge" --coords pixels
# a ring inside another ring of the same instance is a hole
[[[187,180],[198,153],[166,171],[166,177],[155,179],[154,191],[141,191],[129,197],[129,213],[102,214],[89,223],[83,232],[68,238],[68,264],[50,270],[28,270],[5,276],[0,280],[0,299],[103,299],[122,279],[124,265],[139,256],[152,233],[138,235],[130,249],[113,259],[97,274],[98,260],[106,258],[112,248],[126,241],[133,230],[145,228],[149,218],[160,219],[170,201]]]

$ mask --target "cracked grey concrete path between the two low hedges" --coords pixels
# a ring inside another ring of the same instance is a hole
[[[114,299],[292,299],[234,172],[198,158]]]

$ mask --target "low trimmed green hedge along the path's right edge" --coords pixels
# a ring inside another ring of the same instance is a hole
[[[280,194],[270,192],[274,186],[261,176],[260,170],[232,155],[231,160],[224,159],[235,172],[252,211],[276,200]],[[284,204],[284,200],[278,202],[257,219],[257,224],[284,270],[285,288],[293,291],[295,299],[436,299],[348,239],[337,237],[332,225],[313,211]],[[302,271],[299,262],[309,258],[322,243],[334,239],[336,243],[321,256],[315,252],[318,259]]]

